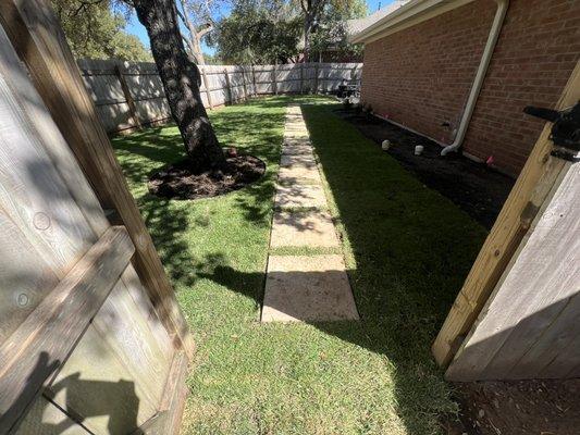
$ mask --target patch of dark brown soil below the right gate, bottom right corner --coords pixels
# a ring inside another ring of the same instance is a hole
[[[580,380],[456,384],[460,423],[452,435],[580,433]]]

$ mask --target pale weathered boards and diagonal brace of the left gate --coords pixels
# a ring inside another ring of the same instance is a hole
[[[11,264],[0,282],[12,293],[1,310],[18,320],[0,334],[0,433],[41,393],[97,433],[111,430],[104,402],[116,428],[135,430],[158,412],[171,337],[135,299],[146,293],[128,282],[126,229],[109,225],[1,29],[0,41],[0,245]]]

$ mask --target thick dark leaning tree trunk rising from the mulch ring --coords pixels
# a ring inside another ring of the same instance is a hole
[[[183,46],[174,0],[134,0],[133,4],[149,35],[171,114],[193,170],[223,169],[225,157],[201,101],[199,70],[189,61]]]

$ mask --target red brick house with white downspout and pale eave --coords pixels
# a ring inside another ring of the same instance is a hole
[[[580,0],[412,0],[351,40],[375,114],[516,176],[544,125],[522,109],[580,59]]]

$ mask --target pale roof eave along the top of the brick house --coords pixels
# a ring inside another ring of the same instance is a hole
[[[372,42],[472,1],[474,0],[411,0],[362,32],[353,35],[349,40],[353,44]]]

